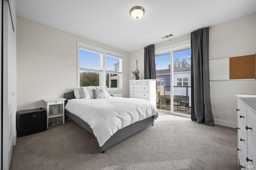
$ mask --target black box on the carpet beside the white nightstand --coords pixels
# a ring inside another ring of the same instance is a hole
[[[47,130],[46,109],[21,110],[16,113],[16,127],[18,137],[31,135]]]

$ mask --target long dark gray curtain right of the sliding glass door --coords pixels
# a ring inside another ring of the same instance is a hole
[[[191,33],[191,119],[214,126],[210,98],[209,28]]]

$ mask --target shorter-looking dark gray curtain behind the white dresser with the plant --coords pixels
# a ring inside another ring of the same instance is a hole
[[[156,79],[155,47],[144,47],[144,79]]]

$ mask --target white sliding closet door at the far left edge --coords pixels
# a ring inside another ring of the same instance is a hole
[[[3,169],[9,169],[14,145],[14,27],[7,0],[3,1]]]

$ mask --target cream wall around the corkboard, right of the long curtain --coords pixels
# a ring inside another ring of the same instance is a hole
[[[256,53],[256,13],[212,26],[209,35],[209,59],[221,59]],[[224,70],[212,68],[214,75]],[[216,72],[218,70],[218,72]],[[215,119],[236,122],[236,94],[256,95],[256,80],[211,81],[212,111]],[[226,111],[231,116],[226,116]]]

